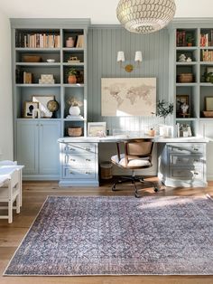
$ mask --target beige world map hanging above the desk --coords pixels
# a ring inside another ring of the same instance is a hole
[[[101,78],[103,117],[152,117],[156,113],[156,78]]]

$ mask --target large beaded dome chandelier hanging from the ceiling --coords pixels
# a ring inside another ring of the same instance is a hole
[[[174,0],[120,0],[116,16],[133,33],[153,33],[169,24],[175,14]]]

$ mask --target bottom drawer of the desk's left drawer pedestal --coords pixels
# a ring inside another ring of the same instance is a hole
[[[63,166],[62,177],[69,179],[94,179],[96,172],[90,169],[75,169],[70,166]]]

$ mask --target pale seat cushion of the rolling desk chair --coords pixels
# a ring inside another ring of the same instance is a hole
[[[124,166],[125,167],[125,154],[121,154],[121,159],[118,161],[118,156],[111,156],[111,160],[114,164],[117,164],[119,166]],[[139,157],[132,157],[129,158],[129,162],[127,164],[127,167],[140,167],[140,166],[151,166],[150,161],[148,158],[139,158]]]

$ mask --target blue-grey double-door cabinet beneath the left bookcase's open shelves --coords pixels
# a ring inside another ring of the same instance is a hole
[[[25,180],[59,180],[60,121],[18,120],[18,164],[24,165]]]

